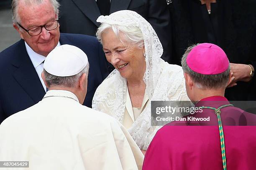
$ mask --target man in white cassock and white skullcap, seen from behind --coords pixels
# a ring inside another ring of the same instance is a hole
[[[0,161],[29,161],[29,168],[19,170],[141,169],[143,154],[125,128],[81,104],[88,70],[77,47],[61,45],[49,53],[42,72],[49,91],[2,122]]]

